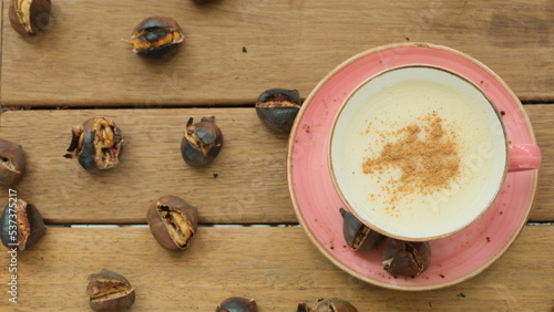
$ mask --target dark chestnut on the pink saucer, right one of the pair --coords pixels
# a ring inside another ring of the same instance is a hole
[[[382,264],[391,274],[416,277],[429,268],[430,261],[431,247],[427,241],[387,238],[383,242]]]

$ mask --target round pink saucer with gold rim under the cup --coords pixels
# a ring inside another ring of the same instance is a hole
[[[342,238],[345,207],[328,168],[334,118],[360,83],[384,70],[422,64],[456,72],[479,85],[501,111],[514,144],[536,144],[515,94],[490,69],[455,50],[423,43],[393,44],[358,54],[330,72],[305,101],[289,138],[288,183],[299,222],[319,250],[342,270],[383,288],[432,290],[460,283],[483,271],[512,245],[525,225],[536,190],[536,170],[507,174],[501,195],[476,222],[449,238],[431,241],[430,268],[416,278],[392,277],[380,252],[358,254]]]

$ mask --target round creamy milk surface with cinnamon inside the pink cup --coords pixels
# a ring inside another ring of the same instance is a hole
[[[331,167],[352,212],[406,238],[470,223],[496,196],[505,164],[492,105],[472,84],[431,67],[363,84],[331,138]]]

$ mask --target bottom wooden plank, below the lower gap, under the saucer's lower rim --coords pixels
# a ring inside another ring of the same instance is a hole
[[[0,302],[25,311],[85,311],[86,277],[106,268],[136,291],[133,311],[213,311],[230,295],[260,311],[339,297],[359,311],[550,311],[554,304],[554,226],[525,227],[488,270],[458,285],[401,292],[358,281],[327,260],[296,228],[201,228],[189,249],[168,252],[147,228],[52,228],[17,256],[18,304],[8,302],[11,258],[0,253]]]

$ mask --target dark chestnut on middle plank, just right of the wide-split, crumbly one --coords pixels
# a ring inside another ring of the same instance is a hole
[[[223,147],[223,133],[215,124],[215,117],[204,117],[199,123],[193,124],[188,118],[185,136],[181,141],[181,155],[191,166],[204,166],[219,154]]]

